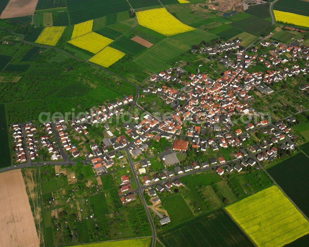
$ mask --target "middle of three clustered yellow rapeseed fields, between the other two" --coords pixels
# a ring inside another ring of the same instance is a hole
[[[90,32],[68,42],[72,45],[90,51],[92,53],[98,53],[108,44],[112,43],[112,41],[113,40],[99,35],[95,32]]]

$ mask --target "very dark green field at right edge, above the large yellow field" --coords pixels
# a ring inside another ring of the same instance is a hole
[[[303,149],[302,147],[304,145],[300,146],[301,149]],[[308,152],[308,144],[305,144],[305,147]],[[309,158],[303,153],[298,153],[267,170],[307,216],[309,216],[309,204],[307,198],[304,197],[304,188],[308,188],[308,164]],[[287,181],[289,182],[287,183]]]

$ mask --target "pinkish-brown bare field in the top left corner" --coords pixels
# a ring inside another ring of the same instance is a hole
[[[13,18],[33,15],[38,0],[10,0],[0,18]]]

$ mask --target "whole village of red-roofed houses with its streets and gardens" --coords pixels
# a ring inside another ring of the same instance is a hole
[[[308,48],[266,40],[244,55],[239,41],[189,51],[225,67],[220,78],[202,73],[203,63],[195,73],[180,66],[151,75],[138,99],[105,102],[70,121],[13,124],[15,162],[91,164],[96,176],[117,172],[122,204],[135,201],[141,189],[156,205],[161,193],[185,186],[180,177],[214,170],[226,178],[289,155],[302,141],[292,131],[296,119],[274,120],[252,102],[254,94],[275,93],[276,83],[307,75]],[[308,94],[308,88],[304,84],[299,91]],[[132,172],[118,172],[129,166]],[[168,215],[159,215],[161,225],[170,222]]]

